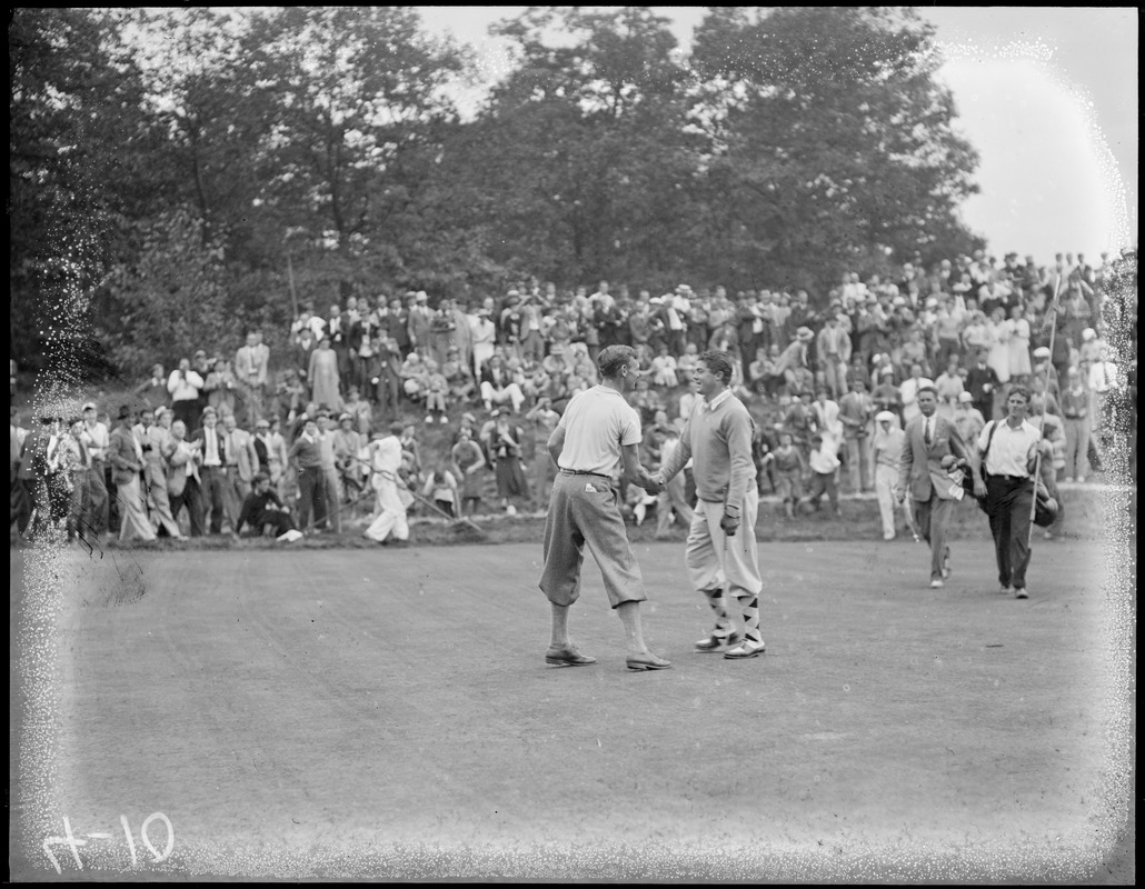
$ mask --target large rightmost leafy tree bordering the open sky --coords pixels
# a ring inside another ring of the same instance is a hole
[[[932,38],[905,9],[713,7],[693,55],[712,254],[806,286],[973,246],[957,206],[977,156]]]

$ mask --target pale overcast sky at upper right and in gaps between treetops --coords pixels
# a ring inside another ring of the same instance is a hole
[[[432,31],[474,46],[490,78],[505,71],[492,22],[526,7],[419,7]],[[681,45],[703,7],[654,7]],[[981,193],[963,209],[998,256],[1017,251],[1097,259],[1137,243],[1135,8],[919,7],[947,59],[960,128],[978,149]]]

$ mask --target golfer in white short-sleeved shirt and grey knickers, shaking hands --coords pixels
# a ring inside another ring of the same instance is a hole
[[[552,638],[545,662],[560,667],[595,664],[568,632],[568,610],[581,595],[581,565],[587,543],[605,581],[608,601],[624,624],[631,670],[666,669],[669,661],[645,644],[640,603],[643,578],[629,545],[611,477],[623,461],[629,482],[652,494],[662,490],[640,465],[640,415],[624,399],[635,387],[640,360],[630,346],[608,346],[597,359],[601,383],[578,392],[548,437],[560,470],[545,518],[545,569],[540,589],[552,609]]]

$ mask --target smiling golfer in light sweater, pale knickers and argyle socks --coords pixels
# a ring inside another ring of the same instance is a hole
[[[732,359],[727,352],[700,356],[693,374],[700,390],[680,432],[680,444],[658,473],[666,484],[688,458],[694,461],[696,509],[688,529],[684,563],[693,587],[716,612],[716,628],[695,643],[700,651],[727,646],[724,657],[735,660],[764,652],[759,634],[759,559],[756,553],[756,515],[759,493],[751,459],[755,423],[728,388]],[[733,633],[724,592],[740,601],[743,633]]]

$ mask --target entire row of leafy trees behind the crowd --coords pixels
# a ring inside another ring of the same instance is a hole
[[[909,9],[534,7],[479,104],[412,7],[17,9],[13,355],[136,372],[298,307],[536,277],[826,294],[969,252],[977,154]]]

